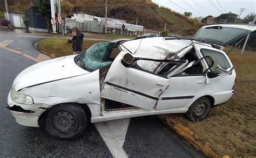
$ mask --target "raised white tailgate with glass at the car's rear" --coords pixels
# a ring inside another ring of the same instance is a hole
[[[218,24],[201,27],[194,35],[194,39],[226,47],[234,41],[256,30],[255,25],[248,24]]]

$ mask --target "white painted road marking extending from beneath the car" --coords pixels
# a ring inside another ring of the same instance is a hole
[[[130,118],[95,123],[113,157],[128,157],[123,149]]]

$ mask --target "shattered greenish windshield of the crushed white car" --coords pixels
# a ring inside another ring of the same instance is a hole
[[[110,65],[112,63],[110,61],[110,54],[116,45],[116,42],[101,42],[91,46],[80,56],[84,67],[96,70]]]

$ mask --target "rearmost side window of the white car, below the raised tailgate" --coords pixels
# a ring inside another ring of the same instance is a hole
[[[230,63],[228,62],[226,56],[220,52],[212,51],[210,49],[200,49],[200,52],[204,56],[210,56],[213,61],[213,67],[211,68],[212,73],[214,74],[220,74],[223,73],[223,71],[219,70],[217,66],[219,65],[221,68],[228,69],[230,68]]]

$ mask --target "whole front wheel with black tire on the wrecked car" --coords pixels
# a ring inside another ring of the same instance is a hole
[[[44,114],[41,125],[53,137],[75,139],[86,128],[86,113],[77,104],[59,104]]]

